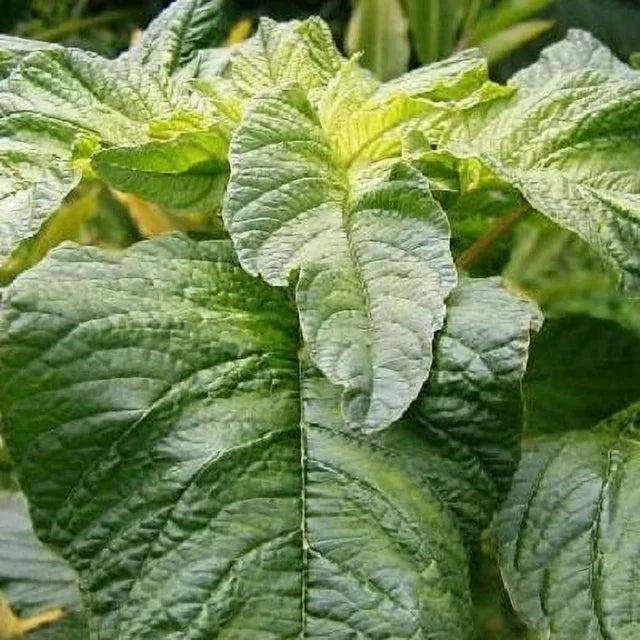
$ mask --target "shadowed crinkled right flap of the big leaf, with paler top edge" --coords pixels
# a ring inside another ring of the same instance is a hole
[[[505,497],[520,458],[521,381],[541,320],[499,278],[463,280],[449,298],[429,380],[403,419],[431,443],[425,473],[470,542]]]

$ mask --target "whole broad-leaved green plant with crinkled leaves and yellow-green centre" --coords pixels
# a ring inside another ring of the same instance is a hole
[[[572,32],[506,86],[476,51],[382,84],[315,18],[218,49],[221,5],[116,60],[2,42],[3,437],[91,637],[472,638],[507,494],[532,632],[633,637],[633,390],[518,469],[542,316],[466,270],[535,209],[636,304],[640,74]],[[40,260],[99,183],[190,232]]]

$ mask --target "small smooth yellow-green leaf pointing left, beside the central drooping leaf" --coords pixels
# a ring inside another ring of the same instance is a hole
[[[183,133],[163,142],[106,149],[92,166],[116,189],[170,210],[219,209],[229,165],[218,131]]]

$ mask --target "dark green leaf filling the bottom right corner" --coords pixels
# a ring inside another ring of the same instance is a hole
[[[512,602],[541,636],[638,635],[639,426],[636,403],[594,431],[526,445],[498,538]]]

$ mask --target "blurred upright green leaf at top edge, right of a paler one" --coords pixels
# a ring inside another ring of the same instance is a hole
[[[422,63],[451,55],[468,0],[406,0],[413,45]]]

